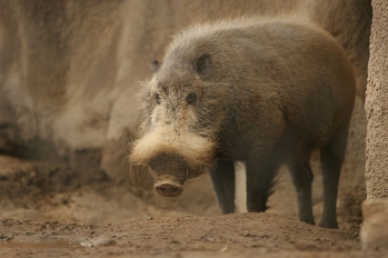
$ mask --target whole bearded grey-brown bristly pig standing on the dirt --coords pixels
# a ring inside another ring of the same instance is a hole
[[[315,225],[311,151],[320,151],[324,210],[337,228],[339,175],[355,102],[342,48],[300,17],[195,24],[175,36],[141,86],[140,138],[130,160],[147,165],[155,189],[177,197],[209,172],[222,214],[235,212],[233,161],[246,162],[247,210],[261,212],[286,165],[298,216]]]

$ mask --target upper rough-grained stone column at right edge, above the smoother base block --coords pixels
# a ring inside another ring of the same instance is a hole
[[[374,19],[368,64],[367,196],[388,197],[388,2],[372,1]]]

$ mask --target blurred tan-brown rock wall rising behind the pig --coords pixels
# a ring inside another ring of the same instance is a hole
[[[82,163],[83,171],[87,167],[101,168],[112,178],[131,178],[125,159],[138,126],[138,81],[150,78],[148,63],[161,59],[169,37],[200,20],[296,9],[334,34],[356,69],[357,99],[339,194],[345,198],[341,205],[349,210],[346,206],[355,207],[352,204],[365,196],[364,100],[371,20],[369,0],[2,2],[0,152],[64,159],[73,166]],[[149,175],[140,171],[132,168],[133,181],[147,188],[151,185]],[[314,201],[318,204],[319,173],[316,179],[318,192]],[[212,195],[206,177],[197,181],[192,182],[193,191],[203,188],[200,192]],[[273,197],[273,202],[289,195],[288,200],[295,199],[289,181],[285,177],[280,182],[281,188],[287,185],[289,192]],[[296,215],[296,210],[292,212]]]

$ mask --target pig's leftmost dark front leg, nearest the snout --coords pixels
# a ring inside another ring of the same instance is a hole
[[[232,160],[220,159],[209,171],[218,206],[222,214],[235,212],[235,165]]]

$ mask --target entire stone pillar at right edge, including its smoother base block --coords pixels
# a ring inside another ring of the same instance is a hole
[[[364,249],[388,249],[388,2],[374,0],[367,111],[367,201],[360,232]]]

